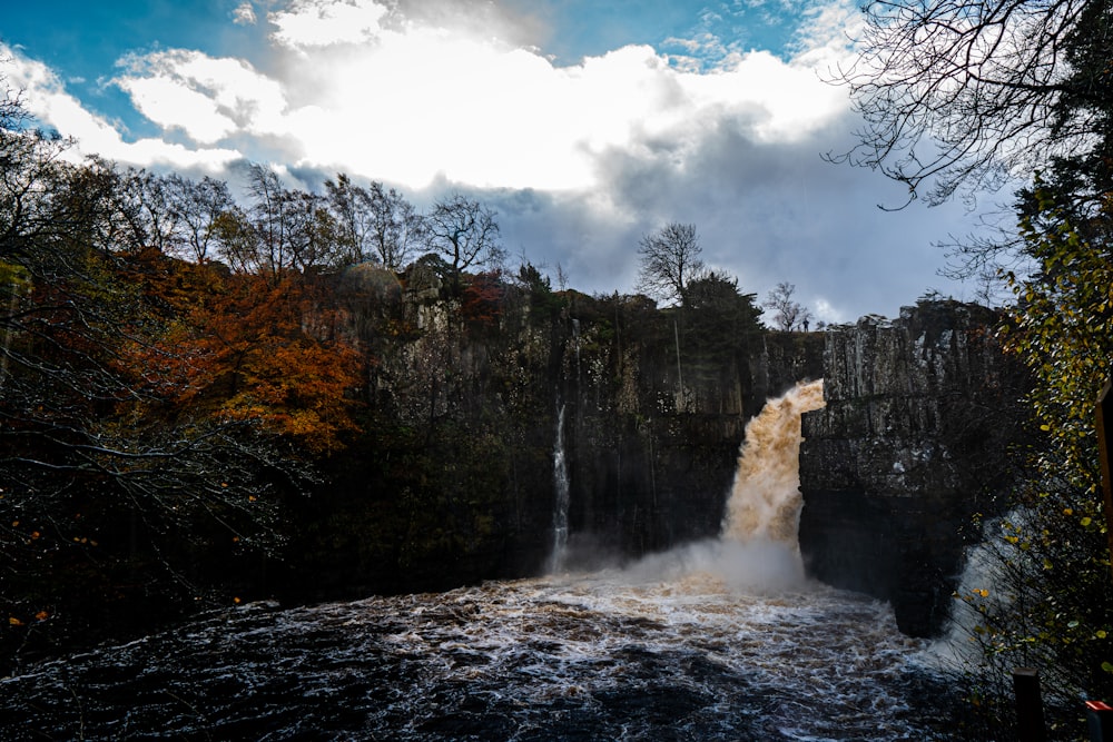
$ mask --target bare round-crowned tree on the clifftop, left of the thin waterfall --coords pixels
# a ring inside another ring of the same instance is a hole
[[[494,217],[494,211],[460,194],[436,201],[426,217],[429,246],[447,263],[455,291],[467,268],[498,267],[504,259]]]

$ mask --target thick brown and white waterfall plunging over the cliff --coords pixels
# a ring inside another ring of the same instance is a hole
[[[824,382],[797,384],[770,399],[746,425],[727,515],[723,542],[770,542],[800,558],[800,415],[825,405]]]

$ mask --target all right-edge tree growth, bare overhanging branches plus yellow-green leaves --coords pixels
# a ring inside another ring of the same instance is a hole
[[[1016,301],[1006,347],[1032,369],[1045,436],[1018,467],[1015,511],[987,532],[988,584],[961,593],[983,652],[971,698],[1007,736],[1007,673],[1040,666],[1052,723],[1113,693],[1111,582],[1093,402],[1111,373],[1113,8],[1097,0],[865,7],[864,53],[841,79],[866,126],[845,159],[940,202],[1026,182],[1016,229],[958,246],[961,274],[996,270]]]

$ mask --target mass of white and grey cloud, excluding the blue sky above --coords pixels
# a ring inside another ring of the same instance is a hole
[[[847,0],[809,4],[791,59],[700,34],[670,40],[677,56],[627,46],[561,66],[528,43],[533,21],[494,3],[292,0],[266,17],[265,58],[125,60],[112,85],[164,139],[124,142],[57,80],[30,98],[88,151],[129,162],[247,157],[386,180],[418,202],[470,190],[499,209],[511,254],[589,291],[631,290],[639,237],[695,222],[743,289],[789,280],[830,321],[914,299],[939,261],[932,239],[961,220],[886,220],[884,182],[821,161],[854,129],[821,72],[847,58],[855,18]],[[248,2],[234,19],[258,22]]]

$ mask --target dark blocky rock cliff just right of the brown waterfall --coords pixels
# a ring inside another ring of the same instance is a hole
[[[892,601],[906,634],[948,615],[975,513],[1008,485],[1025,375],[953,301],[829,329],[824,409],[804,416],[800,548],[825,583]]]

